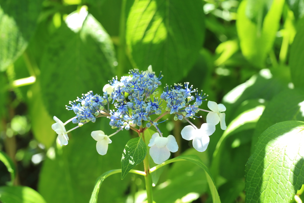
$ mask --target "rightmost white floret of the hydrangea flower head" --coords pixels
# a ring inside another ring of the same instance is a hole
[[[207,123],[216,125],[220,122],[221,129],[226,130],[225,113],[222,113],[223,111],[226,111],[226,107],[221,103],[217,104],[216,102],[208,101],[208,108],[213,112],[207,114]]]

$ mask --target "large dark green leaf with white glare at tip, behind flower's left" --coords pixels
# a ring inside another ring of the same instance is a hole
[[[77,16],[79,15],[79,16]],[[87,16],[86,16],[87,15]],[[85,19],[77,21],[78,18]],[[77,23],[75,23],[77,22]],[[50,40],[41,59],[41,90],[51,116],[67,120],[64,106],[82,93],[102,94],[111,79],[115,52],[109,35],[85,10],[74,12]]]

